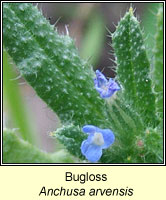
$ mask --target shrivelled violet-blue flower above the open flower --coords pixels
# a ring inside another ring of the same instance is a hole
[[[103,99],[111,97],[117,90],[120,90],[119,85],[112,78],[107,80],[99,70],[96,70],[94,84]]]

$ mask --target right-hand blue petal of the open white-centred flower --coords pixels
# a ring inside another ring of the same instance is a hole
[[[102,145],[102,148],[106,149],[111,144],[114,143],[115,136],[114,136],[113,132],[110,129],[103,129],[103,130],[101,130],[101,133],[102,133],[103,139],[104,139],[104,144]]]

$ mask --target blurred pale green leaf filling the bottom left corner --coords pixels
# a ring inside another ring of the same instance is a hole
[[[19,138],[14,130],[3,131],[3,163],[72,163],[64,151],[46,153]]]

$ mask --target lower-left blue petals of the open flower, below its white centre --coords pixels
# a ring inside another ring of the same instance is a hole
[[[101,146],[90,144],[88,140],[83,141],[81,152],[91,162],[97,162],[102,156]]]

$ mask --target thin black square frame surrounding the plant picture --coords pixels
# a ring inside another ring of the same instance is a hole
[[[47,2],[42,2],[42,1],[3,1],[1,2],[1,5],[3,3],[163,3],[163,19],[165,16],[165,1],[47,1]],[[3,10],[1,9],[1,19],[2,19],[2,13]],[[3,20],[2,20],[3,21]],[[2,30],[2,24],[1,23],[1,30]],[[165,21],[163,23],[163,55],[165,56],[165,29],[164,29]],[[2,33],[2,32],[1,32]],[[1,50],[3,50],[3,35],[1,34]],[[1,51],[3,52],[3,51]],[[163,72],[164,72],[164,77],[163,77],[163,108],[164,108],[164,113],[165,114],[165,57],[163,56]],[[165,163],[165,115],[163,116],[163,163],[131,163],[131,164],[125,164],[125,163],[3,163],[3,53],[1,54],[1,66],[2,66],[2,73],[1,73],[1,163],[0,166],[166,166]]]

